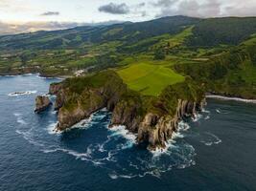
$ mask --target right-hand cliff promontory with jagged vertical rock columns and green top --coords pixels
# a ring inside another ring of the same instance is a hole
[[[178,122],[184,117],[195,117],[205,103],[201,87],[185,82],[168,87],[161,96],[145,103],[138,99],[118,103],[112,115],[112,124],[126,125],[137,134],[139,143],[148,148],[165,148],[166,141],[178,129]],[[144,97],[145,98],[145,97]]]

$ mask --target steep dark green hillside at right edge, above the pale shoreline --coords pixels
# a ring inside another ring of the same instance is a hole
[[[226,53],[202,63],[175,65],[181,74],[190,75],[207,91],[224,96],[256,98],[255,35]]]

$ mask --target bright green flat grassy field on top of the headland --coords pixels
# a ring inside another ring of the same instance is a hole
[[[131,90],[147,96],[159,96],[168,85],[184,80],[184,76],[176,74],[171,68],[167,68],[167,65],[147,62],[131,64],[118,70],[117,73]]]

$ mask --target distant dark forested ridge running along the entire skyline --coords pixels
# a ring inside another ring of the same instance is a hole
[[[163,17],[147,22],[112,26],[77,27],[54,32],[32,32],[0,36],[0,50],[52,50],[77,48],[91,43],[121,41],[126,45],[162,34],[182,32],[194,26],[189,46],[237,45],[256,32],[256,18],[227,17],[199,19],[186,16]]]

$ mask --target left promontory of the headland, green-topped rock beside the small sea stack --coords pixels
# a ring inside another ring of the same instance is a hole
[[[127,85],[114,72],[105,72],[101,76],[67,79],[61,85],[52,85],[50,91],[57,93],[57,129],[63,131],[102,108],[112,111]]]

